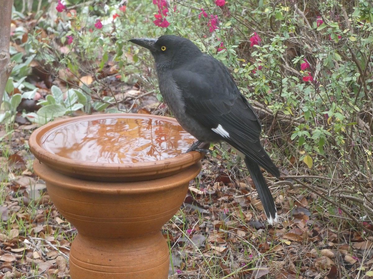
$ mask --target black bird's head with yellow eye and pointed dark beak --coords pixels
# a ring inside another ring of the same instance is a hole
[[[158,70],[165,67],[174,68],[202,55],[200,49],[192,41],[174,35],[163,35],[158,39],[142,38],[129,41],[149,49]]]

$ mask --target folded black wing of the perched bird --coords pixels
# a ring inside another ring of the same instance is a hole
[[[173,70],[172,78],[182,92],[189,116],[207,129],[220,125],[229,134],[224,136],[224,132],[215,130],[223,140],[279,177],[277,167],[260,143],[261,124],[254,109],[222,63],[203,55],[200,60]]]

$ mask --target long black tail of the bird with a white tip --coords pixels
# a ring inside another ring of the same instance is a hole
[[[264,213],[267,216],[267,220],[269,224],[273,224],[277,222],[278,215],[275,201],[273,200],[266,180],[264,180],[263,174],[261,173],[260,167],[257,163],[251,161],[247,156],[245,156],[245,163],[250,172],[251,178],[253,179],[254,185],[258,191],[261,204],[264,208]]]

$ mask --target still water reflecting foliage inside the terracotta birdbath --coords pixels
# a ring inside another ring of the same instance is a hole
[[[103,116],[56,126],[41,142],[50,153],[73,160],[138,163],[176,157],[194,140],[172,122]]]

